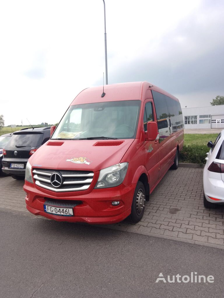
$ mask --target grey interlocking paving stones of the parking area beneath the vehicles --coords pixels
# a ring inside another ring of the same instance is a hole
[[[204,208],[202,177],[203,169],[169,170],[146,202],[139,223],[126,220],[103,227],[224,249],[224,206]],[[0,209],[28,212],[23,183],[0,177]]]

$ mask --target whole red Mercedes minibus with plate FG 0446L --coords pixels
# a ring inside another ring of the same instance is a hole
[[[57,221],[138,222],[183,147],[176,97],[147,82],[88,88],[28,160],[27,209]]]

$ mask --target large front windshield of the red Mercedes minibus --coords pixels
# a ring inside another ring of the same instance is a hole
[[[139,100],[72,105],[51,139],[133,139],[139,118]]]

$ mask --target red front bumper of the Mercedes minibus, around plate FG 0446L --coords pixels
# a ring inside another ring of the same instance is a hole
[[[35,185],[26,181],[24,191],[26,195],[27,210],[35,215],[54,219],[56,221],[69,222],[86,222],[88,224],[113,224],[124,220],[131,213],[131,204],[133,200],[136,184],[125,187],[123,184],[117,187],[105,189],[93,189],[85,195],[69,195],[61,193],[60,196],[49,195],[39,189]],[[46,213],[44,211],[44,203],[47,199],[57,200],[62,203],[65,201],[82,201],[73,207],[74,216],[60,216]],[[112,206],[112,201],[120,201],[119,206]]]

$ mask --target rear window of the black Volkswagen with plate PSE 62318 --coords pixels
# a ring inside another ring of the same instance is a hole
[[[10,141],[7,144],[7,148],[19,148],[19,147],[36,147],[41,145],[43,139],[42,133],[19,133],[13,134]]]

